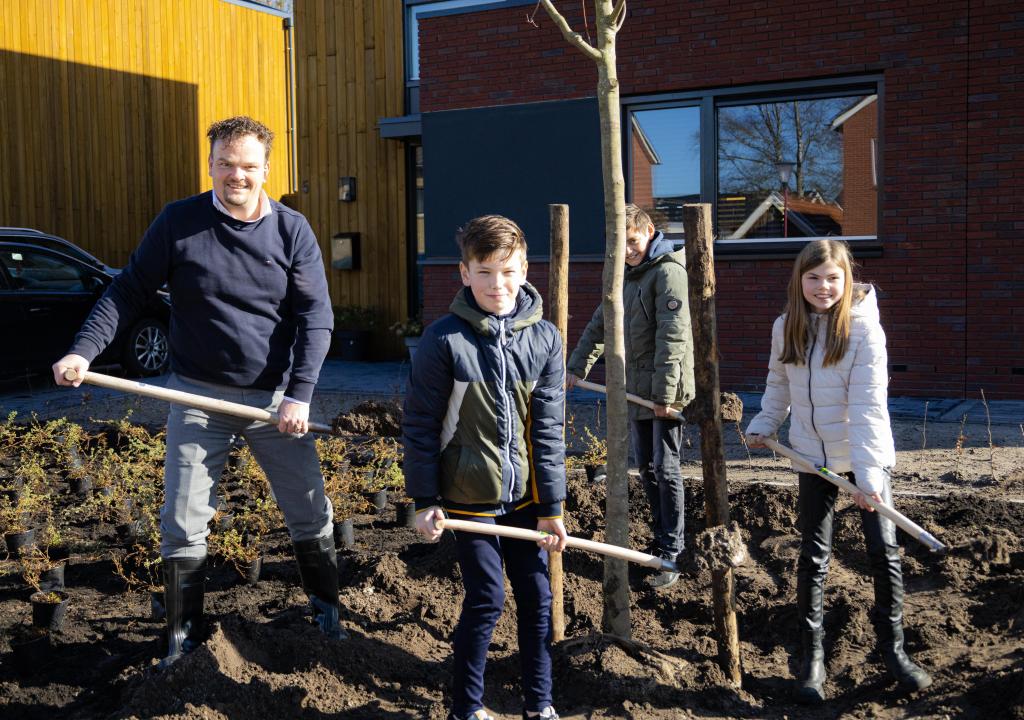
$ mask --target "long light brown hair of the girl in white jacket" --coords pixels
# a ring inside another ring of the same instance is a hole
[[[827,312],[828,332],[825,334],[824,367],[836,365],[850,341],[850,308],[853,306],[853,258],[850,248],[839,240],[815,240],[804,246],[793,264],[785,303],[785,326],[782,333],[782,354],[779,361],[804,365],[811,337],[811,310],[804,299],[804,273],[825,262],[835,262],[843,270],[843,297]]]

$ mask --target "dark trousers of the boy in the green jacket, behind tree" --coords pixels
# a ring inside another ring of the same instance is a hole
[[[633,457],[654,516],[652,528],[656,551],[663,557],[675,559],[683,551],[686,496],[679,462],[683,424],[666,418],[631,420],[630,430]]]

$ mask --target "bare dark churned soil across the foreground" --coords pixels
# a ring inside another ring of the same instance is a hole
[[[731,688],[717,664],[707,558],[685,557],[680,582],[658,593],[644,583],[652,570],[631,566],[633,638],[625,641],[600,634],[601,558],[572,550],[564,556],[567,639],[554,648],[563,718],[1024,718],[1024,504],[1010,494],[1019,473],[998,485],[897,498],[903,513],[950,547],[936,556],[900,534],[907,647],[935,678],[914,695],[897,689],[874,651],[859,513],[841,498],[826,590],[829,702],[803,708],[790,701],[799,644],[796,492],[777,463],[764,466],[730,462],[731,517],[748,554],[735,571],[742,688]],[[769,482],[736,480],[731,473],[742,476],[745,467],[746,475]],[[695,464],[686,470],[699,475]],[[605,486],[572,473],[571,534],[603,539]],[[912,482],[900,489],[912,492]],[[643,548],[650,542],[648,510],[636,478],[630,497],[631,537]],[[78,501],[66,492],[60,502]],[[720,548],[718,562],[734,557],[733,534],[703,530],[700,481],[688,480],[687,547]],[[163,622],[151,620],[146,593],[126,592],[116,577],[112,554],[123,551],[113,526],[86,522],[71,535],[72,604],[46,661],[29,665],[11,651],[30,622],[31,591],[13,562],[0,561],[3,718],[444,717],[450,638],[462,599],[451,535],[423,543],[396,521],[393,507],[357,516],[355,548],[339,551],[350,639],[330,642],[308,620],[286,533],[273,531],[255,587],[232,565],[212,564],[209,640],[165,672],[156,667]],[[507,596],[486,689],[488,707],[505,720],[520,709],[514,602]]]

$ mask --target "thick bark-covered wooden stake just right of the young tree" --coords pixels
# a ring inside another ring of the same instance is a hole
[[[718,383],[718,325],[715,314],[715,258],[711,206],[684,205],[686,272],[693,326],[693,407],[700,426],[705,514],[708,527],[729,524],[729,485],[725,474]],[[739,636],[732,569],[713,568],[712,598],[718,634],[718,660],[726,677],[739,687]]]

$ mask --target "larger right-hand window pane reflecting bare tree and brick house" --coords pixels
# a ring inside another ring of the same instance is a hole
[[[718,110],[718,237],[873,237],[878,96]],[[793,163],[783,183],[780,164]]]

